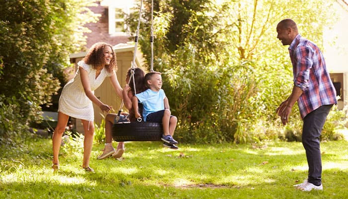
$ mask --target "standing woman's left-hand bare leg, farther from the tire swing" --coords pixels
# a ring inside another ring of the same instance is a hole
[[[69,115],[66,115],[62,112],[58,112],[58,122],[57,126],[54,129],[53,136],[52,136],[52,148],[53,148],[53,164],[59,165],[59,150],[62,143],[62,135],[65,131],[65,128],[68,124]]]

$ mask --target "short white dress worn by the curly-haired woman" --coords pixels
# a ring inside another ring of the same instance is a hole
[[[93,69],[91,65],[80,61],[78,66],[81,66],[87,71],[90,89],[93,94],[94,90],[103,83],[106,77],[113,75],[113,73],[109,73],[105,68],[103,68],[100,71],[99,76],[95,79],[96,70]],[[63,88],[62,94],[59,98],[58,112],[62,112],[78,119],[84,119],[87,121],[94,120],[93,104],[92,101],[86,96],[84,87],[82,86],[79,68],[75,73],[75,77]]]

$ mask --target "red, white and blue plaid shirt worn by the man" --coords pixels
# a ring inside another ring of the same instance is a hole
[[[289,53],[294,85],[303,91],[297,100],[302,119],[322,105],[336,104],[336,90],[318,46],[298,34]]]

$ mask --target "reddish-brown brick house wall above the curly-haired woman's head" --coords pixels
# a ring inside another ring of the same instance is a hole
[[[100,1],[96,1],[96,3],[98,6],[88,8],[101,16],[96,23],[87,23],[85,25],[85,27],[92,31],[91,33],[84,34],[87,36],[86,48],[89,49],[96,42],[106,42],[114,46],[119,43],[127,43],[130,41],[128,36],[111,36],[109,34],[108,7],[101,6]]]

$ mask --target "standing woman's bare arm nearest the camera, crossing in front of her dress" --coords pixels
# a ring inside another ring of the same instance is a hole
[[[87,71],[84,68],[82,68],[81,66],[79,67],[79,70],[80,70],[81,83],[82,83],[82,86],[84,87],[84,91],[85,91],[87,98],[89,98],[89,100],[91,100],[93,103],[98,105],[102,111],[106,111],[106,112],[110,111],[111,107],[108,106],[107,104],[104,104],[103,102],[101,102],[92,93],[92,91],[90,89]]]

